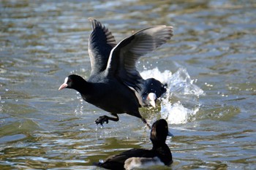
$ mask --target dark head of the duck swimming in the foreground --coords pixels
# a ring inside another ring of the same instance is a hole
[[[168,131],[168,124],[166,120],[160,119],[157,120],[151,128],[151,134],[150,139],[151,142],[158,142],[162,143],[166,141],[167,136],[173,136],[173,134],[170,134]]]

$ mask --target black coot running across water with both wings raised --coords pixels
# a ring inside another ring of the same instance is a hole
[[[167,42],[173,36],[173,27],[144,28],[116,45],[116,40],[108,28],[91,21],[93,31],[89,37],[90,77],[84,80],[78,75],[69,75],[59,90],[75,89],[85,101],[114,116],[101,116],[95,120],[97,124],[108,123],[108,120],[118,121],[117,114],[127,113],[139,117],[148,125],[140,115],[140,103],[135,95],[135,91],[141,89],[140,84],[143,81],[135,63],[142,55]]]

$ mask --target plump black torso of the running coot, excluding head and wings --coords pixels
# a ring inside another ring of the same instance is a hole
[[[95,80],[89,79],[87,84],[91,85],[91,88],[86,93],[81,91],[81,96],[90,104],[94,104],[94,106],[110,113],[135,114],[138,112],[139,105],[135,94],[132,93],[132,90],[127,85],[115,78],[100,77],[99,80],[97,78]]]

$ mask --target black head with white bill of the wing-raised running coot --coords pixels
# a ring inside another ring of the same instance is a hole
[[[84,80],[83,77],[71,74],[69,75],[69,77],[65,78],[64,83],[59,87],[59,90],[62,90],[64,88],[79,90],[80,86],[83,85],[84,82],[86,82],[86,80]]]

